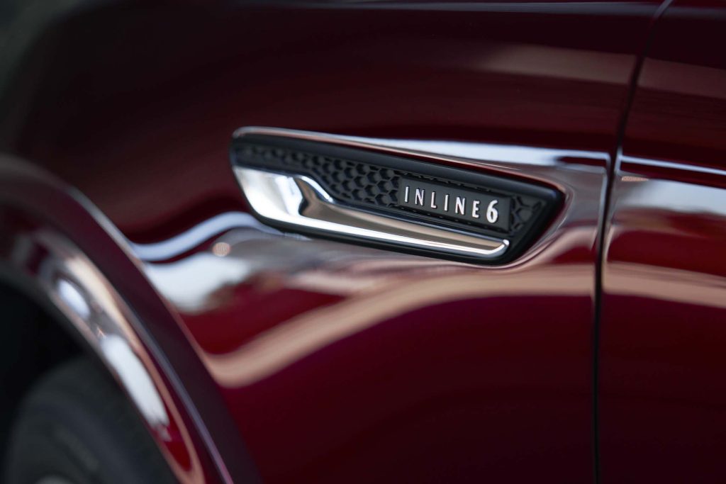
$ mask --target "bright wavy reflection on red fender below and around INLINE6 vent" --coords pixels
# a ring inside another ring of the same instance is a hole
[[[597,217],[608,155],[457,141],[339,138],[401,154],[453,157],[462,165],[526,170],[529,176],[556,184],[566,194],[566,207],[526,255],[501,267],[273,234],[245,214],[223,214],[152,247],[134,246],[146,255],[144,268],[152,284],[182,319],[189,318],[187,328],[197,337],[200,357],[222,385],[252,385],[322,348],[422,308],[514,295],[592,296]],[[199,247],[207,241],[211,243]],[[568,256],[568,263],[552,263],[573,247],[579,249]],[[184,253],[189,255],[169,261]],[[333,302],[291,302],[290,291]],[[261,307],[278,304],[290,305],[285,318],[277,308]],[[219,321],[221,317],[227,321]],[[218,327],[209,323],[218,321],[219,326],[240,324],[250,329],[227,328],[239,335],[238,340],[225,342],[224,347],[232,349],[207,352],[204,342],[214,338],[206,332]]]

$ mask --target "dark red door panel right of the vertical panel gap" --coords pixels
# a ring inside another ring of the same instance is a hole
[[[614,179],[603,271],[603,483],[723,482],[726,9],[656,25]]]

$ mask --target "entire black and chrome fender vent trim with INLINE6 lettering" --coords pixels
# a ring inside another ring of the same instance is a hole
[[[269,131],[238,130],[232,166],[254,215],[285,231],[505,263],[560,202],[544,186]]]

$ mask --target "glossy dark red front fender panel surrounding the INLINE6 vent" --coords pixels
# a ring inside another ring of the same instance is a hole
[[[235,480],[244,441],[271,482],[587,482],[600,202],[656,7],[86,10],[36,44],[1,139],[127,239],[131,261],[61,223],[138,308]],[[270,234],[227,159],[250,125],[395,143],[565,204],[498,268]]]

